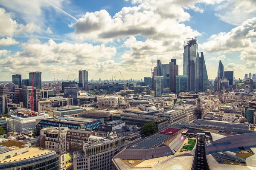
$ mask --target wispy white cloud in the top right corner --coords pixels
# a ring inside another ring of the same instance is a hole
[[[226,23],[239,26],[256,16],[255,0],[225,0],[215,9],[215,15]]]

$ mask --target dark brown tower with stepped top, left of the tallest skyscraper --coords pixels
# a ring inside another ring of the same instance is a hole
[[[176,59],[172,59],[171,61],[173,62],[169,62],[169,67],[170,67],[169,91],[176,93],[176,76],[179,75],[179,65],[176,65]]]

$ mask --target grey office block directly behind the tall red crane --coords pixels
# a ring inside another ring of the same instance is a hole
[[[20,89],[20,102],[23,102],[24,108],[31,109],[29,97],[32,96],[32,86],[25,86]],[[38,102],[42,101],[41,89],[34,87],[34,111],[38,111]]]

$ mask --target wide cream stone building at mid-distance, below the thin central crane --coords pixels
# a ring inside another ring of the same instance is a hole
[[[125,103],[125,98],[122,96],[98,96],[97,102],[99,107],[108,106],[110,108],[116,108],[119,104]]]

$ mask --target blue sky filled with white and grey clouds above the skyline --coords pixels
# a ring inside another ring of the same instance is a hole
[[[256,0],[0,0],[0,81],[143,79],[157,59],[182,75],[192,37],[209,79],[219,59],[236,79],[256,73]]]

